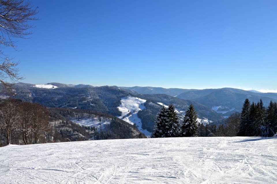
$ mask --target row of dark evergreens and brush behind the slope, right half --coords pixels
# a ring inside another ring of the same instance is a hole
[[[263,101],[257,103],[246,99],[241,113],[235,112],[221,124],[204,124],[196,121],[197,112],[191,104],[186,110],[183,122],[172,110],[172,104],[159,110],[152,137],[180,136],[277,136],[277,103],[270,101],[265,108]],[[171,108],[171,109],[170,109]],[[175,127],[175,128],[174,128]],[[179,128],[176,128],[179,127]]]

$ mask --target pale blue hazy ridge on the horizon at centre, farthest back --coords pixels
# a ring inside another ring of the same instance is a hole
[[[136,91],[141,94],[167,94],[170,96],[176,96],[178,94],[181,94],[183,92],[195,90],[195,89],[180,89],[180,88],[157,88],[157,87],[139,87],[139,86],[134,86],[134,87],[119,87],[123,89],[128,89],[132,91]]]

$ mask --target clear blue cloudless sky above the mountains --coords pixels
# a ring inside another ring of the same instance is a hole
[[[33,1],[22,82],[277,89],[277,1]]]

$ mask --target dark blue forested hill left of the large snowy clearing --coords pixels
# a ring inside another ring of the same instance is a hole
[[[14,98],[38,102],[46,107],[86,109],[115,116],[121,115],[117,108],[121,98],[130,94],[110,86],[47,89],[32,87],[32,84],[17,83],[14,88],[17,92]]]

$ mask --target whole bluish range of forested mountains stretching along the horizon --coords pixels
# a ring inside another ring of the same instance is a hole
[[[186,111],[193,104],[199,119],[217,121],[228,117],[231,113],[239,112],[243,102],[248,98],[251,102],[264,101],[265,106],[272,101],[277,101],[276,93],[257,93],[235,88],[221,89],[179,89],[156,87],[94,87],[85,84],[48,83],[48,88],[35,87],[34,84],[16,83],[14,88],[17,95],[14,98],[30,102],[38,102],[46,107],[63,107],[71,109],[85,109],[101,113],[121,116],[118,107],[121,98],[134,96],[146,100],[145,109],[138,115],[142,127],[149,132],[154,127],[155,117],[162,104],[173,103],[180,112]],[[43,85],[37,85],[43,86]],[[49,86],[53,88],[49,88]]]

